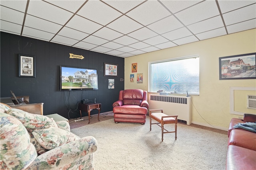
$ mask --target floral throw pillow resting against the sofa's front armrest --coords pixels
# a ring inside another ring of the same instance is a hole
[[[34,129],[32,134],[43,148],[49,150],[80,139],[80,137],[76,136],[74,133],[58,127]]]

